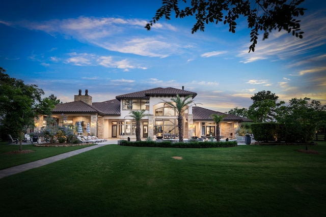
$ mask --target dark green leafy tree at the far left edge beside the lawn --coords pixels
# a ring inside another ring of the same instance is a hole
[[[0,117],[7,134],[14,134],[20,140],[25,131],[34,125],[34,117],[38,114],[50,115],[54,105],[42,101],[43,90],[37,85],[26,85],[20,79],[11,78],[0,67]]]

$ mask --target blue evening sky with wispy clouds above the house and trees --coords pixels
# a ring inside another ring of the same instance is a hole
[[[326,2],[306,1],[298,39],[286,32],[259,36],[209,24],[191,34],[194,18],[145,24],[161,1],[15,1],[0,3],[0,67],[37,84],[62,102],[78,89],[93,102],[155,87],[185,87],[215,111],[248,108],[256,92],[280,100],[309,97],[326,103]]]

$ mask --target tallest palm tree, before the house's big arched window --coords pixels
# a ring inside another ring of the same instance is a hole
[[[186,96],[183,100],[180,98],[180,96],[177,94],[174,98],[171,99],[172,102],[167,102],[172,108],[175,109],[178,115],[178,130],[179,130],[179,142],[183,142],[183,125],[182,125],[182,120],[183,120],[183,114],[184,110],[187,108],[187,105],[193,103],[193,100],[188,100],[189,98],[192,98],[192,95]],[[188,100],[188,101],[187,101]]]

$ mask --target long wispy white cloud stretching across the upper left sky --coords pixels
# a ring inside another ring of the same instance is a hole
[[[187,48],[189,45],[178,45],[171,37],[155,36],[155,31],[152,31],[153,37],[143,37],[134,34],[133,29],[142,28],[147,23],[140,19],[123,19],[114,17],[85,17],[69,19],[52,19],[40,22],[32,21],[17,21],[4,22],[6,25],[25,27],[31,30],[41,30],[51,36],[62,35],[67,38],[74,38],[83,43],[88,42],[96,46],[102,47],[110,51],[121,53],[132,53],[149,57],[164,58],[182,47]],[[176,28],[171,24],[155,24],[154,29],[165,29],[165,35],[169,31],[176,31]],[[126,37],[126,35],[128,37]],[[182,42],[183,43],[183,42]],[[78,61],[71,59],[71,61]],[[83,59],[80,63],[86,64]]]

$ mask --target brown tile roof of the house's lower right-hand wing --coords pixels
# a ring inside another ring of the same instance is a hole
[[[239,117],[233,114],[226,114],[226,113],[222,113],[219,111],[213,111],[213,110],[209,110],[209,109],[205,109],[202,107],[193,107],[193,119],[194,120],[212,120],[211,115],[212,114],[217,114],[217,115],[226,115],[226,117],[223,118],[223,120],[237,120],[240,122],[243,121],[248,121],[251,122],[253,120],[248,119],[248,118],[244,118],[244,117]]]

